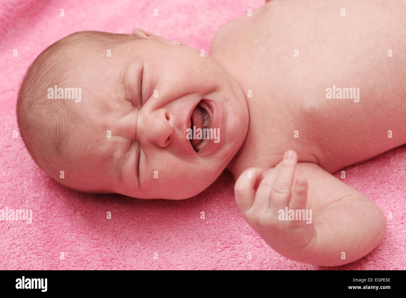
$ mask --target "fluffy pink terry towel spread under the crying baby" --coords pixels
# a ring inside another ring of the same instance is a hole
[[[22,77],[35,57],[63,36],[81,30],[131,33],[139,27],[208,53],[220,26],[263,4],[1,0],[0,209],[31,209],[32,223],[0,221],[0,269],[326,269],[291,261],[268,247],[240,214],[228,172],[182,201],[83,194],[45,175],[19,137],[15,102]],[[336,268],[406,269],[406,146],[345,170],[344,181],[381,208],[388,227],[373,252]]]

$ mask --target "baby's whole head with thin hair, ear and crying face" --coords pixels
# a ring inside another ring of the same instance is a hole
[[[32,158],[67,187],[184,199],[238,152],[248,108],[235,79],[196,49],[140,29],[84,31],[35,59],[17,120]]]

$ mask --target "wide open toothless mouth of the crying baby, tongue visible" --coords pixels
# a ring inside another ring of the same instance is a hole
[[[200,101],[199,104],[194,108],[192,112],[192,117],[190,118],[190,129],[193,138],[190,139],[190,144],[194,151],[205,148],[209,144],[210,139],[207,138],[205,129],[208,131],[210,129],[210,117],[212,116],[212,111],[204,101]]]

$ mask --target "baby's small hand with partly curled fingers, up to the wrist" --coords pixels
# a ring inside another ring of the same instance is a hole
[[[285,152],[283,161],[265,176],[259,168],[246,169],[234,187],[235,201],[246,221],[270,247],[291,259],[310,252],[315,238],[313,221],[284,220],[286,207],[306,208],[307,180],[297,177],[292,188],[297,159],[296,152]]]

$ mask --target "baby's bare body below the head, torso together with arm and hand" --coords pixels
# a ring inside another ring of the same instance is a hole
[[[237,204],[290,259],[346,264],[384,236],[379,208],[331,173],[406,143],[405,13],[400,0],[272,0],[212,41],[211,58],[248,103],[248,133],[227,166]],[[326,99],[333,85],[359,88],[359,101]],[[313,222],[279,221],[283,206],[312,209]]]

